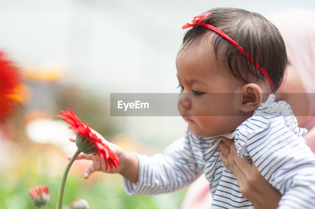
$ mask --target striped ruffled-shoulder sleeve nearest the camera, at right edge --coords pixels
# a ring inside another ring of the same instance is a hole
[[[238,156],[250,156],[259,172],[283,196],[278,208],[313,208],[315,156],[301,137],[290,105],[271,94],[234,131]]]

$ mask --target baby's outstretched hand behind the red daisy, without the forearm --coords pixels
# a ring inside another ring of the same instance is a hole
[[[83,173],[83,176],[85,179],[88,179],[89,176],[94,173],[95,171],[103,171],[105,173],[121,173],[123,171],[123,169],[125,168],[125,164],[124,163],[126,161],[126,155],[128,155],[128,152],[124,151],[123,148],[117,146],[116,144],[113,144],[111,142],[108,142],[104,139],[104,137],[102,137],[99,133],[97,133],[96,131],[94,131],[93,129],[91,129],[92,132],[94,132],[97,137],[99,137],[102,142],[104,144],[106,144],[107,146],[110,147],[110,149],[112,151],[114,151],[118,158],[119,158],[119,163],[120,165],[117,167],[117,169],[115,167],[113,167],[113,172],[110,172],[110,169],[108,168],[106,170],[106,165],[105,165],[105,160],[104,158],[100,158],[98,155],[93,155],[93,154],[84,154],[84,153],[80,153],[76,160],[79,160],[79,159],[86,159],[86,160],[92,160],[93,161],[93,164],[90,165],[87,169],[85,169],[84,173]],[[75,142],[76,140],[76,137],[75,136],[71,136],[69,138],[69,140],[71,142]],[[72,158],[73,155],[69,155],[68,156],[68,160],[70,160]]]

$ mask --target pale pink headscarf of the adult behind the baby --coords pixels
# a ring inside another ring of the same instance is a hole
[[[309,102],[303,138],[315,153],[315,12],[305,9],[282,10],[268,18],[279,29],[290,64],[295,68]]]

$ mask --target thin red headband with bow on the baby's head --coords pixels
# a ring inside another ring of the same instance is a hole
[[[256,67],[262,72],[262,74],[264,74],[266,76],[266,78],[268,79],[268,81],[271,84],[272,89],[274,89],[274,85],[272,83],[271,78],[269,77],[268,73],[266,72],[266,70],[260,66],[260,64],[258,64],[257,62],[255,62],[254,58],[251,57],[241,46],[238,45],[238,43],[236,43],[233,39],[231,39],[228,35],[226,35],[222,30],[217,29],[215,27],[213,27],[212,25],[209,24],[205,24],[205,23],[201,23],[201,21],[203,21],[206,17],[208,17],[211,13],[209,12],[205,12],[202,13],[196,17],[194,17],[193,19],[189,20],[182,29],[186,29],[186,28],[190,28],[190,27],[196,27],[196,26],[203,26],[206,28],[209,28],[210,30],[213,30],[214,32],[216,32],[217,34],[221,35],[223,38],[225,38],[226,40],[230,41],[231,44],[233,44],[233,46],[235,46],[238,51],[240,51],[244,56],[247,57],[247,59],[249,59],[250,62],[254,63],[256,65]]]

